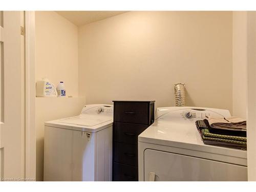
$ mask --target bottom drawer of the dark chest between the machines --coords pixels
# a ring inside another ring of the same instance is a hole
[[[114,163],[114,181],[138,181],[138,168]]]

